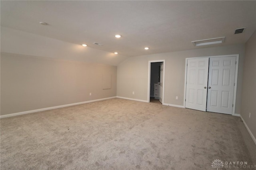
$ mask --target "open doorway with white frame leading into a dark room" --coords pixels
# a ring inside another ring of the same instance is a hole
[[[164,60],[149,61],[148,102],[163,104]]]

